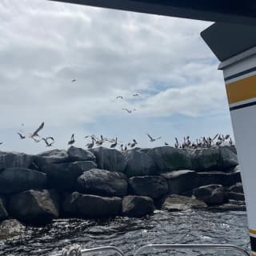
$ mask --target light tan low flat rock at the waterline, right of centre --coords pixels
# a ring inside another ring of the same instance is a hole
[[[206,207],[207,205],[205,202],[177,194],[169,195],[162,204],[162,210],[168,211],[202,209]]]

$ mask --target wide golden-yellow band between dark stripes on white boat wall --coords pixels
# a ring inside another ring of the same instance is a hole
[[[226,84],[230,104],[256,98],[256,75]]]

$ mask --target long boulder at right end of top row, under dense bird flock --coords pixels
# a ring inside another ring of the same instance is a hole
[[[193,170],[231,170],[238,165],[238,157],[226,146],[189,150]]]

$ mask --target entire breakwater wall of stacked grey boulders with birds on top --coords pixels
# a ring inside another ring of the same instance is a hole
[[[41,225],[216,206],[245,207],[234,147],[0,152],[0,221]]]

